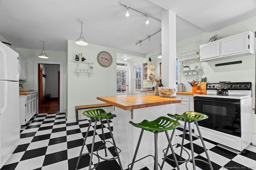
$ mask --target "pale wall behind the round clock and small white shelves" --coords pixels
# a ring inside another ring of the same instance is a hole
[[[107,51],[113,57],[113,63],[110,67],[104,68],[97,62],[97,55],[101,51]],[[90,78],[88,73],[80,73],[79,77],[74,72],[76,67],[86,67],[81,63],[77,66],[75,56],[82,53],[86,59],[85,62],[92,62],[94,73]],[[67,57],[67,115],[68,121],[75,121],[75,106],[103,103],[97,100],[97,96],[116,96],[116,53],[124,53],[142,57],[142,54],[132,53],[103,47],[99,45],[88,44],[80,46],[75,41],[68,40]],[[119,62],[120,63],[120,62]],[[123,63],[123,62],[122,62]]]

